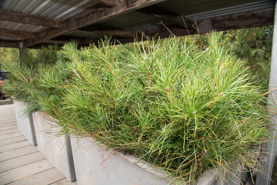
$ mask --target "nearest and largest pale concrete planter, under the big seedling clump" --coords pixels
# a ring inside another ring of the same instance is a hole
[[[155,171],[151,164],[132,155],[104,150],[103,145],[91,138],[71,136],[70,140],[78,185],[170,184],[169,176]],[[237,173],[236,178],[225,171],[210,170],[200,177],[197,185],[240,184],[241,175]]]

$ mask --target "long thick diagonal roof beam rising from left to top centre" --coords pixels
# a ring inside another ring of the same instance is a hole
[[[29,47],[46,40],[51,40],[52,38],[65,34],[69,31],[83,28],[91,24],[96,24],[99,21],[107,20],[108,18],[112,18],[163,1],[165,0],[124,0],[116,7],[96,9],[89,12],[86,11],[87,13],[80,12],[66,20],[63,28],[43,30],[38,33],[38,39],[26,40],[25,46]]]

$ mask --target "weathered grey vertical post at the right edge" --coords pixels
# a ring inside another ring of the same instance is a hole
[[[270,76],[269,76],[269,91],[268,95],[269,104],[268,108],[272,112],[270,115],[270,121],[272,123],[272,135],[277,136],[277,4],[275,4],[275,17],[274,17],[274,30],[272,40],[272,54],[271,54],[271,65],[270,65]],[[270,105],[270,104],[273,104]],[[275,107],[274,107],[275,105]],[[275,108],[275,109],[274,109]],[[272,175],[272,169],[274,165],[274,159],[277,149],[277,140],[274,139],[262,146],[262,152],[265,152],[266,161],[262,161],[263,174],[258,173],[255,184],[270,184],[270,178]]]

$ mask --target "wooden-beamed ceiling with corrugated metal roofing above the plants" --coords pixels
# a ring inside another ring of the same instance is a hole
[[[112,35],[167,38],[273,25],[275,1],[1,0],[0,47],[40,48],[77,40],[80,46]]]

